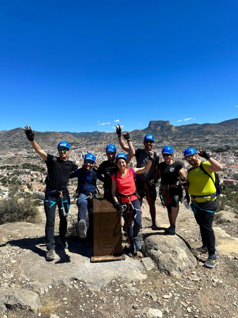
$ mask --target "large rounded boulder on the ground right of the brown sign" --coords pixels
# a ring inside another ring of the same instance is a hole
[[[164,231],[150,232],[149,229],[142,232],[147,256],[155,260],[161,271],[178,276],[195,269],[196,259],[178,235],[167,235]]]

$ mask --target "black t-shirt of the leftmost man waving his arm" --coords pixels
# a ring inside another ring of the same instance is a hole
[[[67,188],[69,175],[77,169],[77,164],[71,160],[62,161],[59,157],[47,154],[46,186],[51,190],[64,190]]]

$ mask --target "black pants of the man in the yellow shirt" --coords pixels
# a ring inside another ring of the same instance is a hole
[[[213,212],[207,212],[200,210],[196,207],[196,211],[194,212],[194,217],[196,219],[197,224],[200,227],[200,233],[202,237],[202,245],[207,247],[208,254],[215,254],[215,234],[212,228],[212,223],[215,216],[215,211],[217,209],[216,201],[210,201],[205,203],[197,203],[198,207],[201,207],[206,210],[211,210]]]

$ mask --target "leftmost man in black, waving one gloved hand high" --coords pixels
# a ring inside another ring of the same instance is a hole
[[[60,226],[59,226],[59,243],[62,248],[67,248],[68,244],[65,239],[67,232],[67,214],[70,206],[67,182],[72,171],[77,169],[77,165],[68,160],[70,145],[67,141],[60,141],[58,144],[59,157],[47,154],[34,140],[35,132],[30,126],[24,128],[27,139],[30,141],[35,152],[46,162],[47,177],[45,188],[44,208],[46,213],[46,260],[55,259],[55,219],[56,206],[59,209]]]

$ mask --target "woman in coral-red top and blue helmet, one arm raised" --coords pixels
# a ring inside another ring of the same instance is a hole
[[[134,175],[149,171],[153,159],[152,156],[153,153],[150,154],[150,160],[148,160],[145,167],[131,169],[127,168],[127,158],[125,154],[119,153],[116,157],[118,171],[112,176],[112,195],[115,208],[117,212],[122,213],[124,211],[122,205],[127,206],[125,210],[129,209],[130,204],[132,205],[132,220],[130,221],[128,213],[123,215],[126,233],[130,243],[128,256],[134,255],[135,249],[141,249],[141,243],[138,238],[138,233],[141,228],[141,207],[136,194]]]

